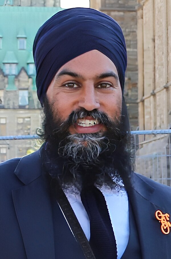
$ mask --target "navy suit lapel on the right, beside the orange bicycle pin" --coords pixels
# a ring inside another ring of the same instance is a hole
[[[154,204],[157,201],[157,193],[153,187],[145,183],[139,176],[133,175],[133,189],[129,196],[135,215],[137,230],[143,259],[163,258],[167,254],[167,243],[171,242],[169,235],[161,232],[160,223],[155,218],[156,210],[164,213],[166,209]],[[164,257],[169,259],[168,256]]]

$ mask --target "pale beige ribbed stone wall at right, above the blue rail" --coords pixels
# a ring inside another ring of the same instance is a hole
[[[144,114],[139,126],[142,130],[167,129],[171,126],[171,3],[139,0],[139,4],[139,114]]]

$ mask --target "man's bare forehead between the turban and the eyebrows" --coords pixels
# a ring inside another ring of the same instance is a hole
[[[76,72],[85,78],[92,78],[107,71],[113,71],[118,75],[115,64],[98,50],[91,50],[70,60],[58,70],[56,75],[64,69]]]

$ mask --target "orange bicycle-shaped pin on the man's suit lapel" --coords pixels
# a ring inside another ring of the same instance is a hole
[[[171,223],[169,222],[170,215],[168,213],[163,214],[161,210],[157,210],[155,213],[156,219],[161,223],[161,231],[163,234],[169,234]]]

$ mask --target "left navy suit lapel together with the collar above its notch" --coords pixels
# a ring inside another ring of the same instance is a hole
[[[51,201],[41,164],[36,151],[23,157],[14,172],[24,183],[12,195],[27,259],[55,258]]]

